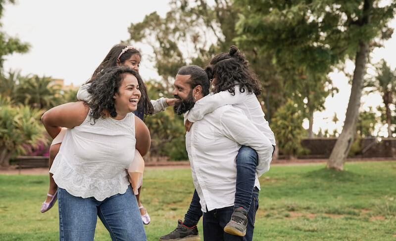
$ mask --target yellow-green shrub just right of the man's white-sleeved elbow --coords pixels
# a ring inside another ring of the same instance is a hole
[[[300,145],[304,136],[302,121],[301,110],[291,99],[274,114],[271,128],[275,133],[278,141],[277,146],[282,154],[296,156],[306,152]]]

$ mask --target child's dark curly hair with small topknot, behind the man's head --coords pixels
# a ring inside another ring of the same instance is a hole
[[[233,45],[229,53],[220,53],[212,58],[205,68],[209,80],[216,78],[212,89],[214,93],[228,90],[235,94],[235,86],[240,86],[240,91],[261,94],[261,84],[257,75],[249,67],[245,55]]]

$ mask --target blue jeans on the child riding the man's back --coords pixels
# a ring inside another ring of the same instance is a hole
[[[234,208],[244,207],[249,211],[251,195],[254,188],[255,172],[257,166],[257,153],[251,147],[242,146],[239,149],[237,162],[237,184]],[[198,224],[202,216],[201,205],[197,191],[194,191],[190,207],[184,216],[183,224],[187,227],[193,227]],[[230,220],[228,220],[230,221]]]

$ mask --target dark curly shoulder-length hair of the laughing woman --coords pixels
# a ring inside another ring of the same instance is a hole
[[[127,66],[116,66],[105,69],[97,76],[88,88],[88,92],[92,96],[90,106],[91,120],[97,120],[103,116],[103,111],[107,110],[111,117],[116,117],[117,112],[114,107],[115,93],[119,93],[119,88],[125,74],[132,74],[138,79],[139,87],[143,84],[143,80],[139,73]]]

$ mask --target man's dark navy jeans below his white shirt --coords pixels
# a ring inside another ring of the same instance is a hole
[[[254,188],[250,203],[251,208],[247,213],[247,230],[244,237],[227,234],[223,231],[231,219],[234,207],[214,209],[203,214],[203,240],[204,241],[251,241],[253,238],[254,219],[258,209],[258,189]]]

